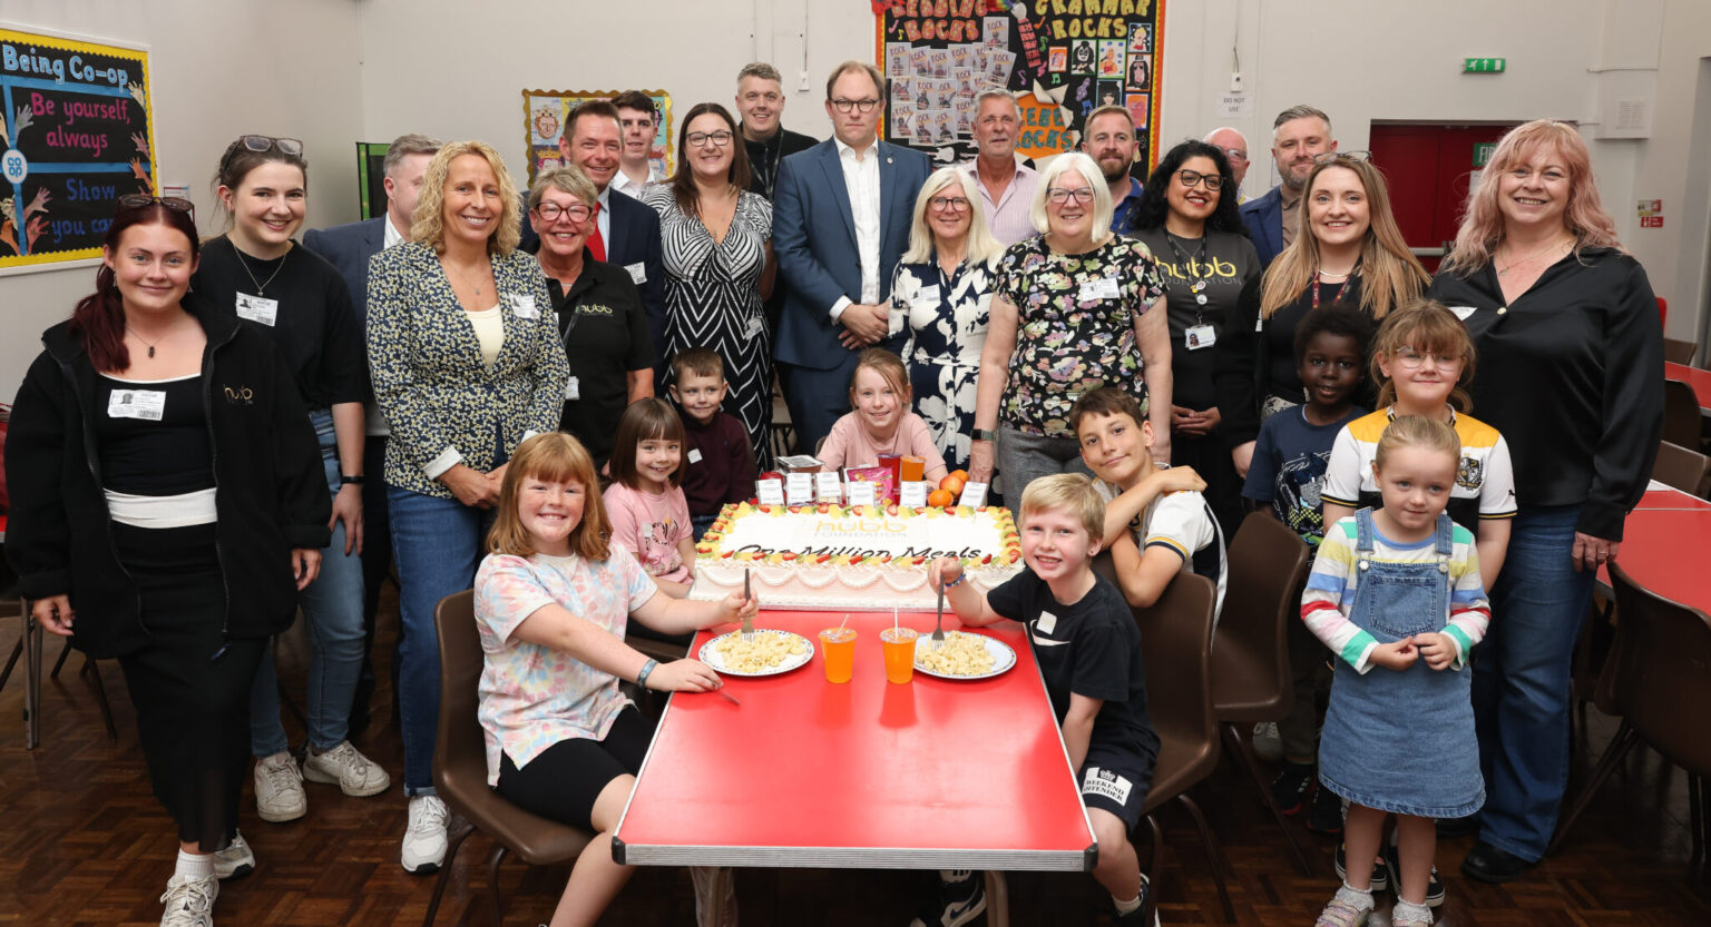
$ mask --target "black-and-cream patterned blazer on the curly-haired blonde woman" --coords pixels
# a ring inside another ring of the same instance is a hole
[[[392,426],[387,484],[452,498],[436,477],[457,464],[488,472],[536,431],[558,428],[570,364],[541,265],[494,255],[505,344],[493,368],[433,248],[404,243],[368,263],[368,368]]]

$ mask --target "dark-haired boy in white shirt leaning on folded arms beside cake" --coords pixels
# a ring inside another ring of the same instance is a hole
[[[1187,467],[1153,465],[1153,426],[1128,392],[1100,387],[1069,409],[1081,462],[1105,499],[1100,534],[1110,547],[1117,585],[1138,609],[1158,600],[1177,573],[1199,573],[1218,585],[1223,607],[1223,535],[1199,494],[1206,482]]]

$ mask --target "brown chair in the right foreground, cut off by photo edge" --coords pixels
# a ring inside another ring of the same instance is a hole
[[[1562,818],[1545,855],[1557,852],[1610,773],[1634,744],[1644,741],[1663,759],[1687,771],[1692,857],[1697,860],[1706,843],[1701,794],[1706,776],[1711,776],[1711,739],[1704,735],[1702,720],[1711,710],[1711,672],[1706,672],[1711,665],[1711,617],[1641,587],[1620,564],[1610,564],[1610,587],[1622,616],[1612,653],[1613,696],[1622,727]]]

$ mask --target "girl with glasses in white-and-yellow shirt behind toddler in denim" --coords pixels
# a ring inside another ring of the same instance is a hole
[[[1473,342],[1466,327],[1439,303],[1412,299],[1384,316],[1372,340],[1372,381],[1377,410],[1348,422],[1331,446],[1324,472],[1324,523],[1379,501],[1372,458],[1379,434],[1403,416],[1424,416],[1454,428],[1461,457],[1449,496],[1449,518],[1478,539],[1480,575],[1497,582],[1509,525],[1514,520],[1514,472],[1509,445],[1495,428],[1458,412],[1468,409],[1461,390],[1473,380]]]

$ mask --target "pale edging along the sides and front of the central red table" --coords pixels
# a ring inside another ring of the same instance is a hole
[[[921,612],[924,614],[924,612]],[[1006,619],[1008,621],[1008,619]],[[1028,626],[1021,626],[1023,645],[1032,648]],[[690,641],[690,653],[712,640],[712,631],[696,631]],[[1030,650],[1028,657],[1033,653]],[[1018,657],[1020,660],[1020,657]],[[809,660],[813,664],[813,660]],[[808,664],[790,670],[806,672]],[[1033,660],[1033,679],[1040,686],[1045,710],[1051,713],[1051,693],[1045,691],[1045,674],[1040,662]],[[625,843],[625,821],[630,819],[630,804],[635,802],[642,776],[647,775],[654,759],[654,746],[659,732],[666,729],[676,693],[667,696],[666,708],[654,725],[654,737],[648,739],[647,753],[642,754],[642,766],[636,770],[636,783],[625,799],[625,812],[618,816],[613,828],[613,862],[619,865],[744,865],[767,869],[996,869],[1006,872],[1092,872],[1098,862],[1098,838],[1093,835],[1093,819],[1086,814],[1086,802],[1081,802],[1081,785],[1076,782],[1076,770],[1069,766],[1069,746],[1064,744],[1063,725],[1052,715],[1052,729],[1057,732],[1057,751],[1064,759],[1064,771],[1069,773],[1069,787],[1076,790],[1081,806],[1081,826],[1086,828],[1088,845],[1081,850],[956,850],[956,848],[893,848],[893,847],[708,847],[708,845],[669,845],[669,843]]]

